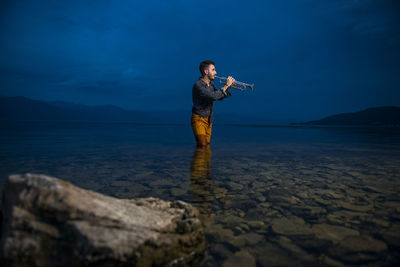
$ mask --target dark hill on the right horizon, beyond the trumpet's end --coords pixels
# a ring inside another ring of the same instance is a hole
[[[297,125],[345,125],[345,126],[400,126],[400,107],[376,107],[359,112],[342,113],[328,116],[321,120]]]

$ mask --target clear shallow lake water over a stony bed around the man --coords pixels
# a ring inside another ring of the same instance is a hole
[[[1,185],[44,173],[107,195],[184,200],[204,266],[400,261],[400,130],[41,122],[0,128]]]

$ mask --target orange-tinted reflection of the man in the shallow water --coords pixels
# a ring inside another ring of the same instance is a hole
[[[197,148],[190,164],[190,197],[200,211],[200,219],[205,226],[211,224],[212,214],[211,149]]]

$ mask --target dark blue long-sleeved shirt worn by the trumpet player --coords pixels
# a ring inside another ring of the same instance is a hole
[[[212,121],[214,113],[214,101],[222,100],[230,95],[231,94],[229,92],[224,93],[222,90],[215,87],[213,81],[210,82],[210,85],[207,85],[207,83],[199,78],[192,88],[192,112],[200,115],[203,118],[209,117],[210,121]]]

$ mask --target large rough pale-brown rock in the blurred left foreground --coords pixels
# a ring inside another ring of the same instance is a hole
[[[204,233],[182,201],[116,199],[44,175],[3,191],[2,266],[193,265]]]

